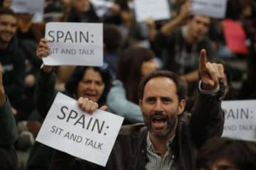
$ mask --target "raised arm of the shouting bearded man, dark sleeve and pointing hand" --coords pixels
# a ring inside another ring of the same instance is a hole
[[[221,101],[224,94],[223,65],[207,62],[205,49],[200,52],[199,92],[192,108],[191,130],[197,147],[205,140],[221,136],[224,126],[224,112]]]

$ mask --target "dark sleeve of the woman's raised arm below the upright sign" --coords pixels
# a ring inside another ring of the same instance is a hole
[[[54,89],[56,76],[53,71],[45,73],[40,70],[35,91],[35,102],[38,112],[43,118],[47,115],[51,104],[57,94]]]

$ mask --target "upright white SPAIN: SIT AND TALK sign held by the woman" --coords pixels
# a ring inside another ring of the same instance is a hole
[[[50,55],[45,65],[103,65],[103,24],[49,22],[45,38]]]

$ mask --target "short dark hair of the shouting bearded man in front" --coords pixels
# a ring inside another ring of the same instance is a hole
[[[142,100],[143,98],[144,89],[148,81],[150,81],[150,79],[157,78],[157,77],[166,77],[174,81],[176,85],[176,89],[177,89],[176,92],[177,92],[179,101],[187,98],[187,82],[184,78],[182,78],[181,76],[177,75],[172,71],[158,70],[151,73],[150,75],[145,76],[145,78],[143,78],[142,81],[140,81],[139,92],[138,92],[139,100]]]

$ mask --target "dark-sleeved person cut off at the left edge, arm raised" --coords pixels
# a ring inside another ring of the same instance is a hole
[[[0,64],[0,169],[17,169],[17,155],[14,142],[17,139],[17,127],[11,105],[2,84],[2,65]]]

